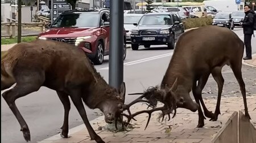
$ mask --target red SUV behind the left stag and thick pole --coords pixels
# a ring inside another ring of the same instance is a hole
[[[53,21],[47,31],[40,33],[38,38],[78,46],[94,64],[102,64],[104,55],[109,54],[109,23],[108,9],[65,11]],[[125,33],[123,37],[126,43]],[[125,57],[124,45],[123,59]]]

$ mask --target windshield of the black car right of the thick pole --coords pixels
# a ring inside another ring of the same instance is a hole
[[[138,25],[172,25],[170,15],[144,15]]]

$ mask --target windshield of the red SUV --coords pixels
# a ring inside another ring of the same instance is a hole
[[[97,13],[72,13],[60,15],[51,27],[97,27],[99,24]]]

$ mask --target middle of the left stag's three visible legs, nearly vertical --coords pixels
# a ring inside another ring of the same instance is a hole
[[[64,92],[57,92],[57,95],[59,96],[60,101],[64,106],[64,122],[61,127],[62,132],[60,136],[63,138],[69,138],[70,136],[68,136],[68,114],[70,110],[70,101],[68,98],[68,94],[65,94]]]

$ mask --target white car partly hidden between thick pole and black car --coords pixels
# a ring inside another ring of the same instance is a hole
[[[123,15],[123,26],[126,31],[126,42],[131,42],[131,29],[136,27],[134,23],[138,23],[143,14],[124,14]]]

